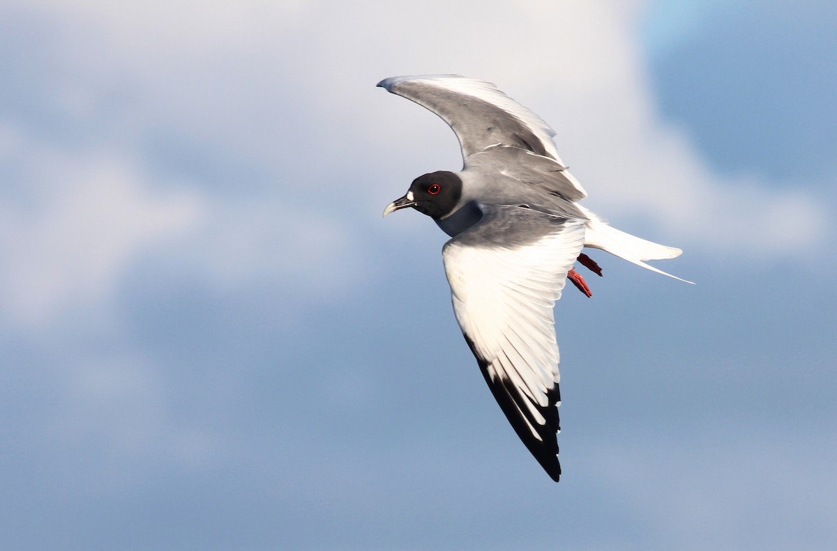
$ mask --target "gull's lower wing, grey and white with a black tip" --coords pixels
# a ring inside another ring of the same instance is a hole
[[[454,313],[485,382],[556,482],[561,376],[552,308],[583,242],[581,220],[489,207],[443,251]]]

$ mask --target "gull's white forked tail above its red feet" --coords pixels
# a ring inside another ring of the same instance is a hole
[[[679,279],[686,283],[686,279],[678,278],[677,276],[665,273],[662,270],[644,263],[645,260],[660,260],[663,258],[679,257],[683,253],[677,247],[666,247],[660,243],[650,242],[640,237],[636,237],[629,233],[620,232],[615,227],[610,227],[607,222],[591,219],[587,223],[587,233],[584,237],[584,246],[599,248],[608,253],[614,254],[619,258],[624,258],[630,263],[637,266],[648,268],[652,272],[662,273],[670,278]]]

